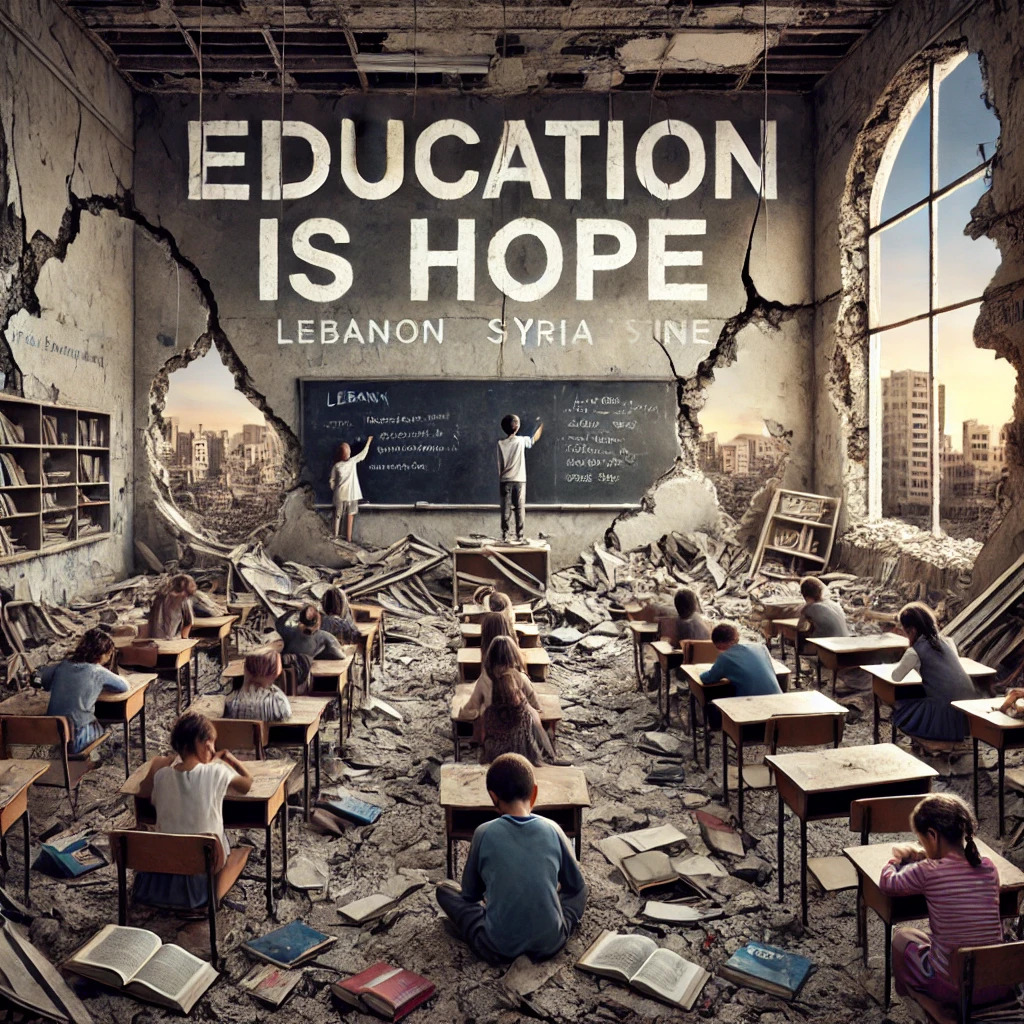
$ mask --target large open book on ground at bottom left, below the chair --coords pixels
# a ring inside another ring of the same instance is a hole
[[[101,985],[187,1014],[217,980],[198,956],[144,928],[105,925],[63,966]]]

